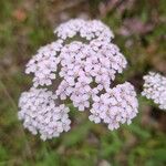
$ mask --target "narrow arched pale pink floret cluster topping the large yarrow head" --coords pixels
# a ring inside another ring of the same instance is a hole
[[[110,42],[114,38],[108,27],[98,20],[85,21],[82,19],[73,19],[59,25],[54,30],[54,33],[62,40],[73,38],[76,34],[80,34],[81,38],[85,38],[89,41],[97,39]]]

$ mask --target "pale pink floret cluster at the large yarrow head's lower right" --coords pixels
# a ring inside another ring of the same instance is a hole
[[[108,129],[116,129],[136,116],[138,102],[131,83],[118,84],[111,91],[93,97],[90,121],[108,124]]]

